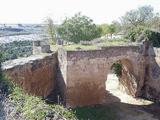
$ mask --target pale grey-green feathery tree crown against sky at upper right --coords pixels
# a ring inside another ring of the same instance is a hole
[[[122,24],[127,27],[144,26],[154,16],[153,8],[151,6],[142,6],[136,10],[127,12],[122,18]]]

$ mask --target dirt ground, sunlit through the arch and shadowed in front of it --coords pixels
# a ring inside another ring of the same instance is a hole
[[[135,99],[118,89],[118,79],[108,76],[106,90],[112,98],[107,106],[116,110],[118,120],[160,120],[160,104],[144,99]],[[113,102],[114,101],[114,102]]]

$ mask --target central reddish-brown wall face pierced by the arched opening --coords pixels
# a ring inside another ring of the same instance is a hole
[[[138,46],[67,51],[66,105],[73,107],[105,103],[108,96],[105,89],[107,74],[118,60],[131,61],[138,84],[141,74],[139,51]]]

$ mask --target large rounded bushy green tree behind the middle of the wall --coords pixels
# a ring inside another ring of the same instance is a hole
[[[58,34],[64,40],[79,43],[100,37],[101,30],[93,23],[92,19],[78,13],[63,21],[58,28]]]

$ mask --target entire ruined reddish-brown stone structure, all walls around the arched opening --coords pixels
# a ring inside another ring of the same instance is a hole
[[[4,71],[32,94],[47,97],[58,89],[63,103],[75,107],[106,103],[109,97],[105,81],[117,62],[122,64],[120,83],[128,94],[160,100],[160,48],[153,48],[146,41],[137,46],[100,50],[60,49],[23,64],[4,65]]]

